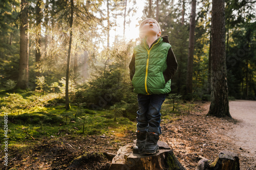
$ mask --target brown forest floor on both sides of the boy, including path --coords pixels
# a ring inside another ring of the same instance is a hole
[[[162,116],[160,140],[170,145],[186,169],[195,169],[199,156],[212,160],[220,151],[228,150],[239,155],[242,170],[255,170],[255,136],[248,134],[253,132],[255,135],[255,124],[253,115],[246,115],[250,109],[255,116],[255,103],[231,101],[230,114],[234,119],[230,119],[205,116],[210,103],[195,102],[194,108],[174,115],[172,119]],[[8,151],[6,169],[108,169],[111,158],[104,153],[116,154],[120,147],[136,139],[133,130],[113,134],[66,135],[26,141],[24,145],[27,147]],[[75,163],[74,158],[82,161]],[[0,168],[4,167],[1,161]]]

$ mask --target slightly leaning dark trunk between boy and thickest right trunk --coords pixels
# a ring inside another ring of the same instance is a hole
[[[189,27],[189,47],[187,60],[187,82],[186,94],[191,94],[193,91],[193,60],[194,60],[194,46],[195,46],[195,27],[196,27],[196,5],[197,1],[193,0],[191,3],[190,27]]]

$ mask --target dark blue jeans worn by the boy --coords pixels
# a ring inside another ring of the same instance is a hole
[[[137,130],[162,134],[161,106],[165,100],[165,94],[138,94],[139,110],[137,111]]]

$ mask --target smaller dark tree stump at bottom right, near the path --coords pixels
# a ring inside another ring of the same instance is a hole
[[[198,162],[196,170],[239,170],[239,158],[238,154],[221,151],[218,157],[214,161],[207,159],[201,159]]]

